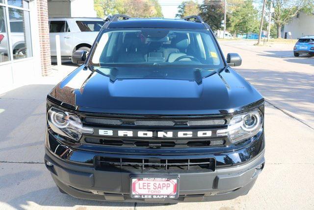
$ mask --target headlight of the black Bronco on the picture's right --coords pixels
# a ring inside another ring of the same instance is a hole
[[[262,129],[263,116],[260,110],[234,116],[227,129],[217,130],[217,136],[228,136],[232,143],[250,138]]]

